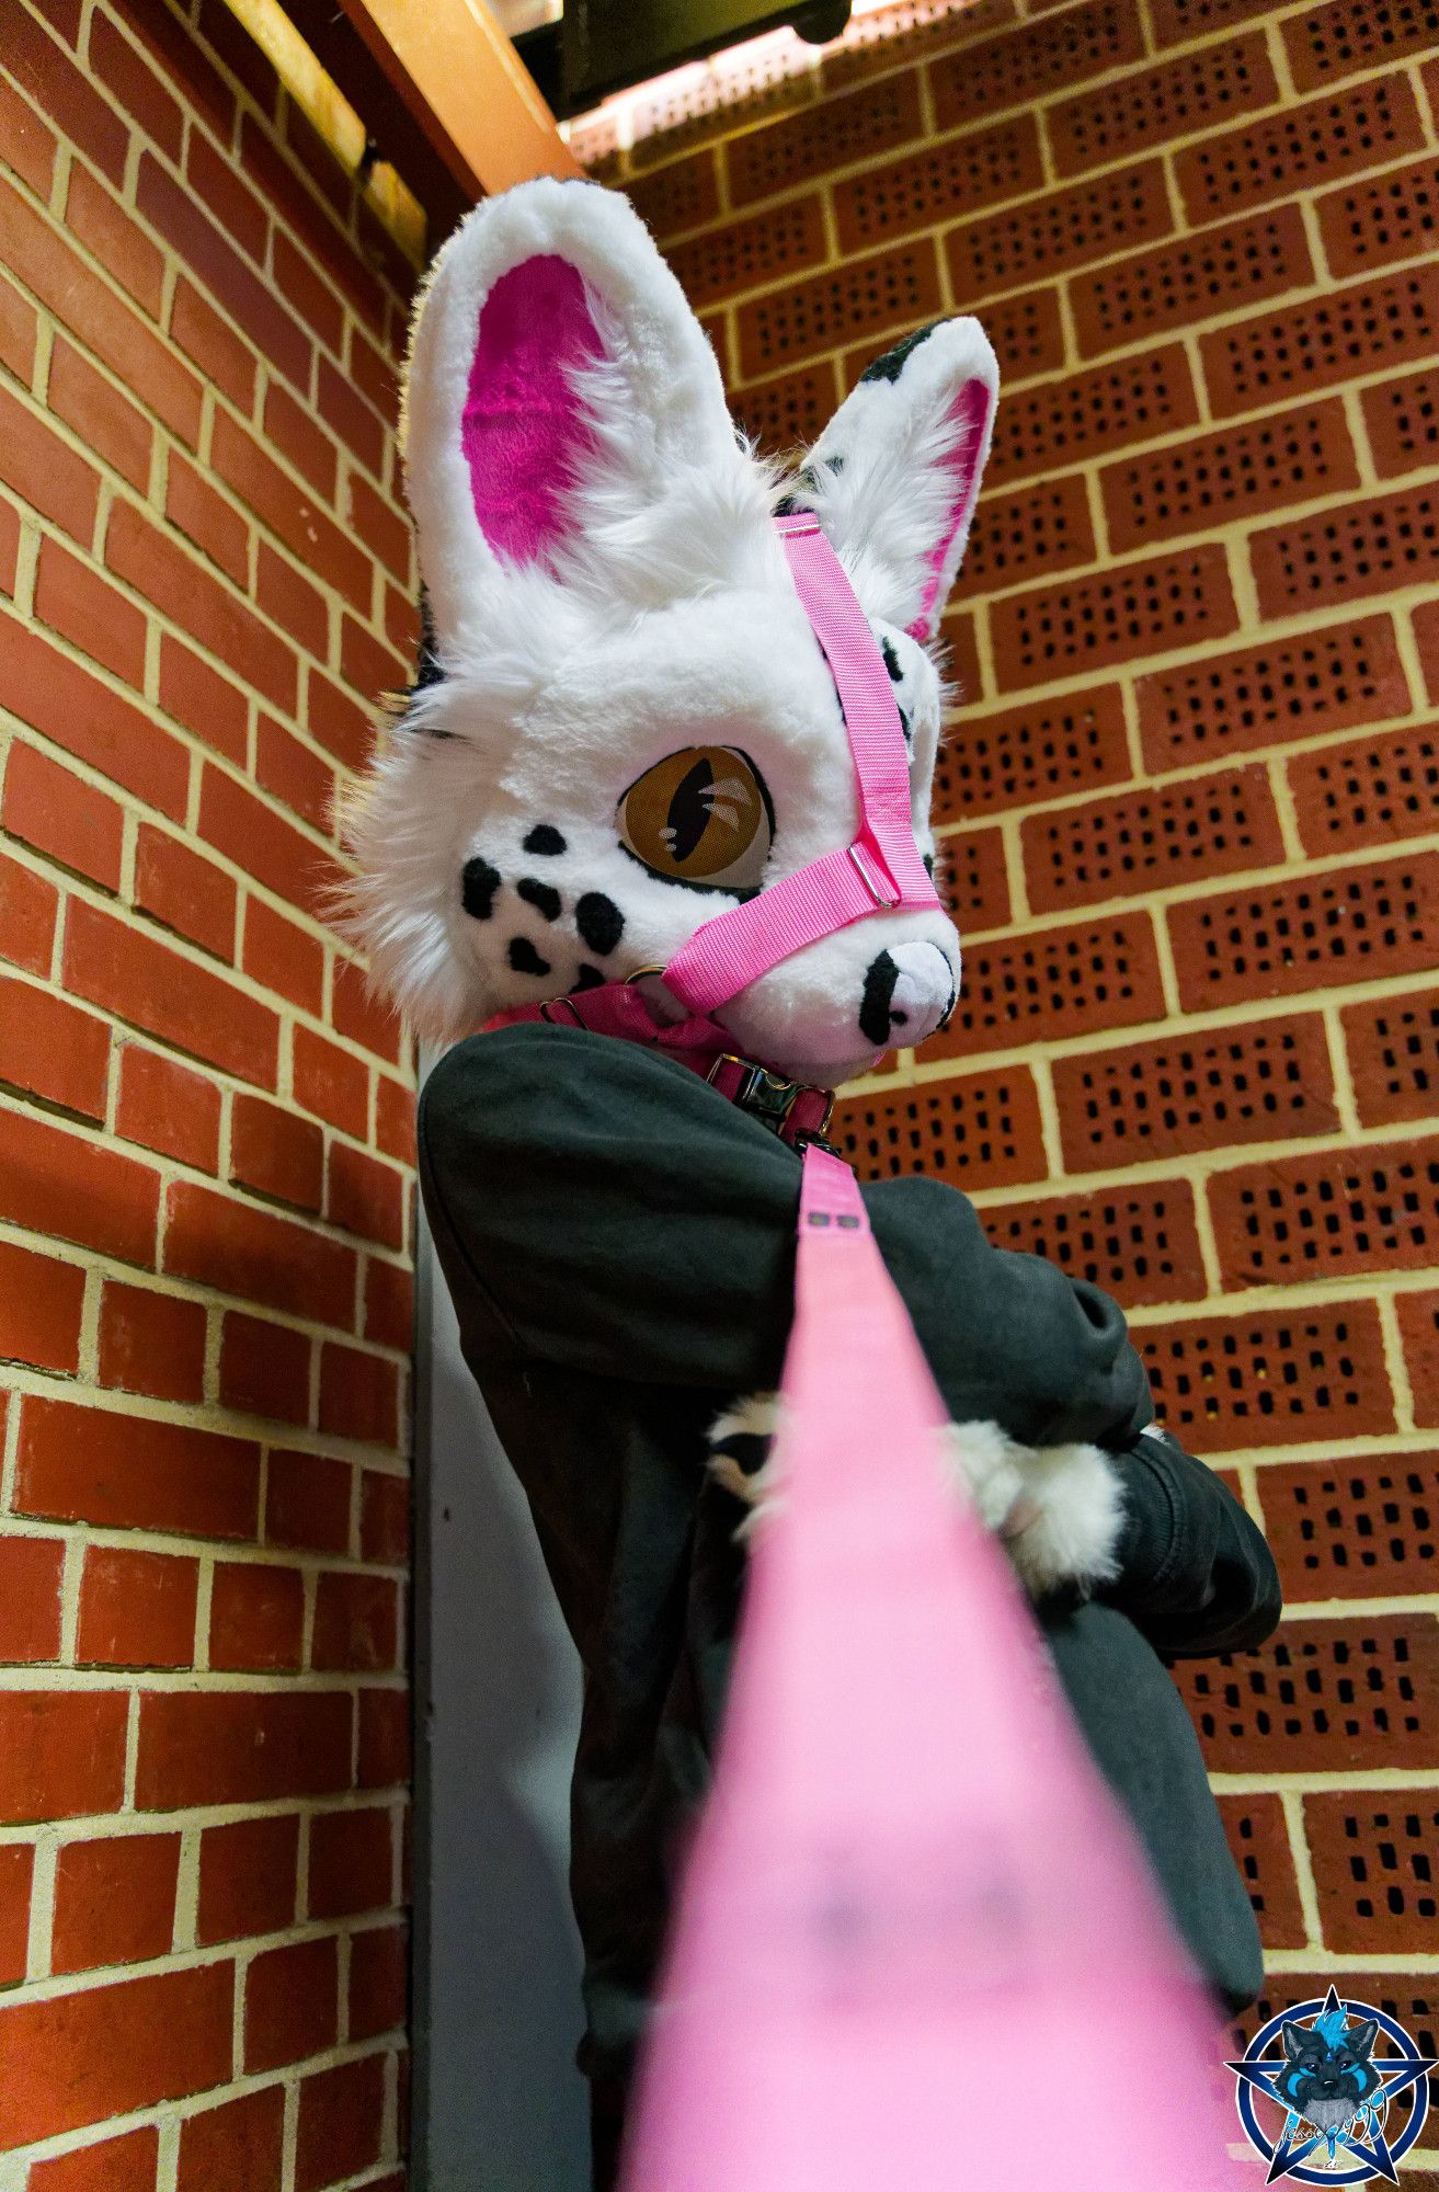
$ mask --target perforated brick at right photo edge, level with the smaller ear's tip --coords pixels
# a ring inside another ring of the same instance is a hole
[[[1439,292],[1419,267],[1261,311],[1200,338],[1204,381],[1220,419],[1332,388],[1439,351]]]

